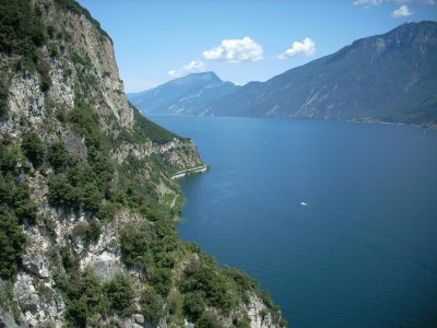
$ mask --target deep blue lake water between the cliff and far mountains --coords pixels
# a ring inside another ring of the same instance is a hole
[[[291,327],[437,327],[436,130],[151,118],[211,166],[180,180],[180,236],[258,279]]]

